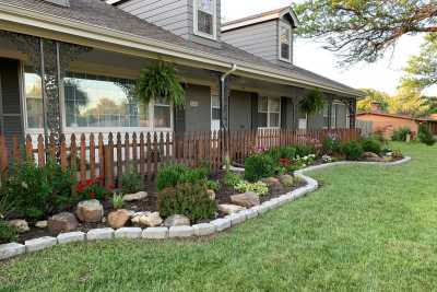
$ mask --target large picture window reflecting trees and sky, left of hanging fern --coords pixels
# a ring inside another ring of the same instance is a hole
[[[68,73],[63,79],[67,127],[150,127],[149,106],[138,102],[134,82]]]

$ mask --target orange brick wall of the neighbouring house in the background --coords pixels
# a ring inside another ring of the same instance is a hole
[[[373,132],[382,132],[386,138],[391,138],[393,131],[408,127],[413,133],[417,133],[418,125],[414,119],[377,116],[371,114],[358,115],[358,120],[371,121]]]

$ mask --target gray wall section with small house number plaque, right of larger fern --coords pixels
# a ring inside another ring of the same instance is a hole
[[[185,122],[186,131],[211,130],[211,89],[202,85],[187,85]]]

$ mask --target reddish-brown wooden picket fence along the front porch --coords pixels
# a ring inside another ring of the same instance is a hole
[[[359,130],[336,129],[319,131],[293,130],[240,130],[231,131],[229,154],[234,162],[244,160],[257,148],[270,149],[279,145],[318,144],[326,135],[334,135],[342,141],[359,138]],[[121,187],[121,177],[128,165],[132,165],[146,179],[154,179],[160,165],[177,162],[189,167],[202,163],[210,165],[213,173],[223,166],[225,135],[223,131],[204,132],[141,132],[62,135],[57,143],[54,136],[47,141],[39,135],[34,147],[31,136],[25,141],[12,139],[8,149],[4,137],[0,136],[0,170],[4,174],[12,163],[35,162],[43,167],[49,159],[57,161],[62,170],[76,170],[81,182],[101,177],[106,186]]]

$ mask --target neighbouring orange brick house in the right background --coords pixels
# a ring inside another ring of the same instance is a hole
[[[393,132],[401,128],[409,128],[414,137],[417,135],[421,124],[425,124],[434,135],[437,135],[437,120],[382,113],[380,104],[377,102],[371,103],[370,112],[358,113],[356,119],[371,122],[371,131],[380,132],[387,139],[390,139]]]

